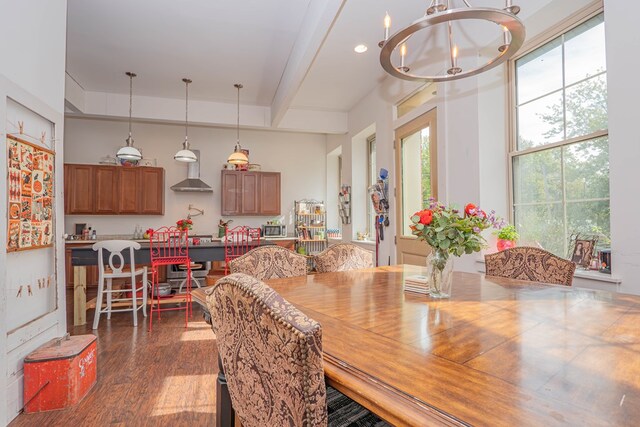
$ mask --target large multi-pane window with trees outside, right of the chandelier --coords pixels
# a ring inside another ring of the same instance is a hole
[[[604,17],[516,59],[513,218],[525,244],[561,256],[574,233],[609,239]]]

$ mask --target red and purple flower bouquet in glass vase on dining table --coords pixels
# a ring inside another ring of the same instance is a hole
[[[503,221],[495,211],[487,214],[473,203],[460,212],[453,206],[429,199],[427,209],[411,216],[411,233],[431,246],[427,258],[427,277],[432,297],[447,298],[453,279],[453,259],[451,255],[462,256],[478,252],[486,247],[482,231],[489,227],[500,228]]]

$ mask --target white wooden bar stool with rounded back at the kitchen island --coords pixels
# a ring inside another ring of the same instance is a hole
[[[138,326],[138,310],[142,309],[142,314],[147,317],[147,267],[136,269],[134,250],[140,249],[140,243],[132,242],[130,240],[105,240],[98,242],[92,246],[94,251],[98,251],[98,298],[96,301],[96,313],[93,318],[93,329],[98,329],[98,323],[100,322],[100,314],[107,313],[107,319],[111,319],[111,313],[131,311],[133,312],[133,326]],[[123,251],[129,249],[129,269],[124,269],[125,259]],[[104,257],[105,253],[109,253],[108,268],[105,267]],[[118,258],[118,265],[116,266],[115,258]],[[136,285],[136,277],[142,276],[142,283]],[[113,289],[113,279],[131,279],[130,292],[131,297],[123,298],[118,296],[113,297],[115,292],[122,293],[124,289]],[[105,288],[106,281],[106,288]],[[138,297],[138,292],[142,295]],[[107,305],[105,309],[102,308],[103,295],[107,295]],[[142,304],[138,305],[138,298],[142,299]],[[112,309],[112,303],[114,302],[131,302],[131,307]]]

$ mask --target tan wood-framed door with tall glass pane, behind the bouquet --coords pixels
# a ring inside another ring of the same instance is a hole
[[[396,130],[398,264],[424,266],[429,246],[411,234],[411,215],[438,197],[435,108]]]

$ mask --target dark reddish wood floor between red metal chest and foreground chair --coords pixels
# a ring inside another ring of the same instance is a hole
[[[72,301],[68,325],[72,335],[90,334],[87,325],[73,327]],[[21,414],[16,426],[203,426],[215,423],[217,350],[211,327],[194,304],[193,321],[184,328],[184,312],[162,313],[153,332],[148,318],[139,314],[138,327],[131,313],[114,313],[100,320],[98,382],[72,408]]]

